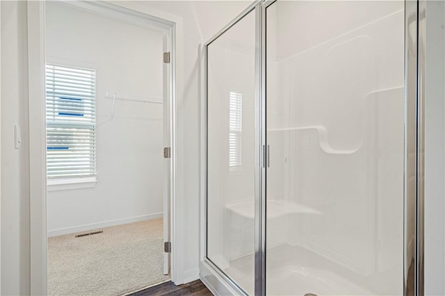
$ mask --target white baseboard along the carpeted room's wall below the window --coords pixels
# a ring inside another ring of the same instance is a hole
[[[154,213],[154,214],[140,215],[140,216],[135,216],[135,217],[105,221],[105,222],[84,224],[84,225],[79,225],[79,226],[75,226],[75,227],[54,229],[54,230],[48,231],[48,237],[50,238],[51,236],[63,236],[64,234],[90,231],[93,229],[111,227],[111,226],[116,226],[116,225],[120,225],[120,224],[128,224],[128,223],[139,222],[139,221],[144,221],[144,220],[153,220],[153,219],[157,219],[157,218],[161,218],[161,217],[163,217],[163,213]]]

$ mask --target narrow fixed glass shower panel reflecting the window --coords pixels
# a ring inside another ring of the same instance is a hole
[[[254,11],[207,45],[207,258],[254,293]]]

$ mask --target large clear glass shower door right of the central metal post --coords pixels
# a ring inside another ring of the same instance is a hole
[[[403,295],[403,1],[266,18],[266,292]]]

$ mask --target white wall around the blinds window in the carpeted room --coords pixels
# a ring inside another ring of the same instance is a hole
[[[118,100],[112,118],[106,99],[106,92],[162,99],[161,31],[64,3],[46,7],[47,63],[96,69],[97,85],[97,185],[48,192],[49,234],[161,217],[163,107]]]

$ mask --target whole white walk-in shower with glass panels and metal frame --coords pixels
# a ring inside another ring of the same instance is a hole
[[[258,1],[204,45],[214,292],[421,293],[422,7]]]

